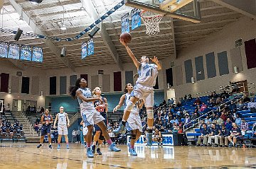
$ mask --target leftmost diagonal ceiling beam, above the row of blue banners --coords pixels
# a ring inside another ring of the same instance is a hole
[[[45,33],[43,33],[43,31],[40,30],[40,28],[38,28],[38,25],[36,25],[36,23],[34,23],[34,21],[31,18],[29,18],[29,16],[23,11],[23,8],[21,7],[20,4],[18,4],[15,0],[9,0],[9,2],[12,6],[14,6],[16,12],[20,16],[23,16],[23,20],[26,21],[26,23],[28,23],[28,25],[31,27],[34,33],[38,35],[45,35]],[[45,45],[50,48],[51,52],[53,52],[53,54],[55,54],[55,56],[63,62],[63,64],[68,66],[68,68],[70,68],[72,71],[75,71],[75,66],[73,66],[73,64],[68,60],[68,57],[60,57],[61,49],[59,47],[57,47],[51,40],[42,40],[43,42],[45,42]]]

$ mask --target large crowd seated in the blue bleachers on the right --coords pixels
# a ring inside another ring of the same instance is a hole
[[[185,95],[178,102],[174,99],[169,99],[167,102],[163,100],[163,103],[154,107],[154,135],[158,138],[154,141],[161,142],[159,132],[183,133],[183,129],[194,127],[194,123],[198,122],[198,117],[201,117],[199,124],[201,136],[198,136],[197,146],[236,146],[236,139],[245,136],[249,130],[250,134],[256,137],[256,122],[249,129],[248,123],[239,113],[240,110],[250,110],[251,113],[254,113],[256,110],[255,100],[244,95],[242,98],[229,101],[233,98],[235,96],[232,93],[223,91],[218,94],[214,91],[202,98],[195,99],[191,95]],[[186,108],[188,106],[190,106],[190,110]],[[143,135],[146,134],[145,107],[140,110],[140,116]],[[193,120],[195,121],[193,122]],[[117,126],[118,122],[110,121],[110,133]],[[125,134],[119,135],[119,139],[122,138],[125,138]],[[212,139],[215,139],[214,142]]]

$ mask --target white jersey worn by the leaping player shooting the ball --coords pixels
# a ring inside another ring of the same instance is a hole
[[[136,83],[149,87],[153,87],[156,85],[156,77],[158,75],[156,64],[141,63],[138,69],[138,74],[139,77]]]

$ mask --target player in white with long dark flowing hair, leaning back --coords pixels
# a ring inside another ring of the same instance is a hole
[[[93,158],[92,150],[90,148],[90,144],[92,141],[92,129],[93,124],[97,124],[102,130],[102,134],[105,137],[109,146],[109,151],[121,151],[121,149],[117,148],[114,143],[112,143],[110,139],[110,135],[107,132],[107,127],[105,125],[105,118],[100,115],[100,112],[95,110],[92,102],[96,100],[100,100],[102,103],[102,98],[92,98],[92,92],[90,88],[87,88],[87,81],[84,78],[78,78],[75,82],[75,86],[70,86],[69,93],[73,98],[78,98],[78,103],[80,105],[80,112],[82,116],[82,121],[87,126],[87,157]]]

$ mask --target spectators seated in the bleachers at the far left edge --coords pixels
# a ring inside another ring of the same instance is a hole
[[[9,120],[6,119],[4,115],[0,116],[0,134],[10,134],[10,136],[14,136],[14,134],[22,134],[23,125],[15,121],[14,124],[11,124]]]

